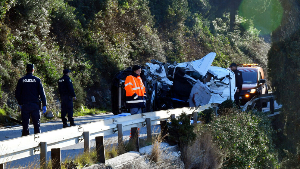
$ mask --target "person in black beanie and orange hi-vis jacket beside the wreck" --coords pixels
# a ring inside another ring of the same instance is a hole
[[[125,91],[126,91],[126,108],[130,109],[130,114],[142,113],[142,109],[146,105],[146,90],[139,76],[142,72],[142,67],[134,65],[132,74],[126,77]]]

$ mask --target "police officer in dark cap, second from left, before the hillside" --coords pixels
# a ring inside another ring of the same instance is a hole
[[[76,100],[76,94],[73,88],[72,80],[70,79],[70,70],[64,69],[63,77],[58,80],[58,91],[61,97],[61,120],[63,122],[63,128],[69,127],[67,124],[66,115],[70,121],[70,126],[76,126],[73,118],[73,97]]]

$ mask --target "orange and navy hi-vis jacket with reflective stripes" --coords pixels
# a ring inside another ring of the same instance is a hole
[[[125,80],[126,108],[144,108],[146,103],[146,90],[140,76],[127,76]]]

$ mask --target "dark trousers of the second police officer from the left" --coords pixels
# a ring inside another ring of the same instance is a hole
[[[74,121],[73,118],[73,97],[61,98],[61,121],[67,122],[66,115],[69,121]]]

